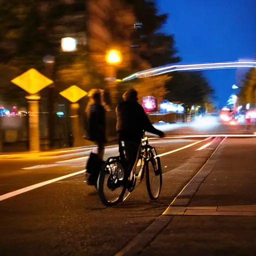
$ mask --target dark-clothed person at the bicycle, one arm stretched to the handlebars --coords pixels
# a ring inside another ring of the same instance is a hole
[[[138,103],[137,91],[128,89],[122,95],[123,101],[116,107],[116,130],[118,134],[120,157],[126,160],[128,176],[136,161],[138,148],[144,131],[160,137],[164,133],[151,124],[143,107]]]

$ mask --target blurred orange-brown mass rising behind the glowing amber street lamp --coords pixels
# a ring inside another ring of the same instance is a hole
[[[87,1],[88,48],[99,70],[106,75],[106,52],[110,48],[121,51],[119,68],[129,68],[130,34],[134,24],[131,8],[119,0]]]

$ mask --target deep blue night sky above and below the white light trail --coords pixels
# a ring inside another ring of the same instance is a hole
[[[256,53],[256,0],[156,0],[169,14],[164,32],[173,34],[181,62],[253,59]],[[245,70],[246,71],[246,70]],[[244,70],[204,71],[222,107]]]

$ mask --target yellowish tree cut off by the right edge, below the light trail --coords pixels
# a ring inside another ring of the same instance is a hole
[[[239,96],[242,104],[256,106],[256,68],[251,68],[246,73]]]

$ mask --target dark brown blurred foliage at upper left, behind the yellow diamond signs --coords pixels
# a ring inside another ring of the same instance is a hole
[[[98,75],[83,46],[79,45],[77,52],[71,54],[60,51],[61,36],[73,32],[72,29],[85,33],[85,17],[82,22],[77,17],[66,18],[66,15],[73,17],[77,11],[80,13],[81,8],[74,4],[66,6],[61,1],[1,1],[0,87],[4,89],[5,101],[11,94],[19,98],[15,85],[8,85],[12,78],[29,68],[53,78],[59,90],[72,84],[85,90],[104,86],[103,77]],[[47,54],[55,57],[52,71],[42,61]]]

